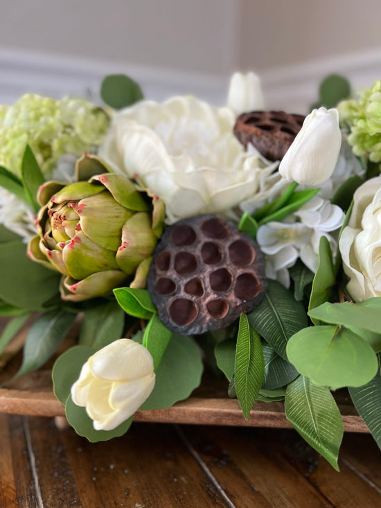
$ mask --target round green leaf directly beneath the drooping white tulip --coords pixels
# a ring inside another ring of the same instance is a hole
[[[133,417],[123,421],[121,425],[113,430],[95,430],[93,421],[87,415],[85,408],[81,408],[71,400],[71,396],[67,399],[65,405],[67,421],[76,430],[77,434],[86,437],[91,443],[98,441],[109,441],[113,437],[120,437],[130,428]]]

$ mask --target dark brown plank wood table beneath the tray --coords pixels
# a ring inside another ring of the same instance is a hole
[[[90,444],[0,414],[0,507],[381,507],[381,453],[346,433],[341,473],[294,430],[134,423]]]

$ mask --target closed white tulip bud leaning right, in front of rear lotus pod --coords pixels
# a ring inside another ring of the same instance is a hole
[[[279,173],[298,184],[319,185],[333,173],[342,146],[339,112],[319,107],[302,128],[279,165]]]

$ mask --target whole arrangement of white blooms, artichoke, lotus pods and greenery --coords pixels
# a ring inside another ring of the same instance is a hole
[[[79,316],[53,385],[90,441],[209,363],[246,419],[284,400],[336,469],[336,389],[381,446],[381,82],[305,119],[266,112],[254,73],[224,107],[145,100],[127,76],[101,95],[0,109],[0,351],[39,313],[16,376]]]

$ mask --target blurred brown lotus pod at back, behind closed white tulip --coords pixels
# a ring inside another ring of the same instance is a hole
[[[301,130],[305,116],[284,111],[253,111],[238,116],[234,134],[243,146],[254,145],[263,157],[280,161]]]

